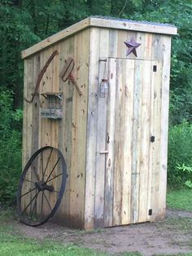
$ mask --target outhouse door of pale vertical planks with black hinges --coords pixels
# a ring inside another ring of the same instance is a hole
[[[158,189],[151,176],[159,171],[162,65],[109,58],[99,61],[99,81],[105,73],[109,94],[98,97],[95,227],[101,220],[105,227],[146,222]]]

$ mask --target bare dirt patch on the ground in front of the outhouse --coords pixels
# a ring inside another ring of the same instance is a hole
[[[37,240],[49,238],[115,255],[132,251],[146,256],[192,253],[192,213],[185,211],[168,210],[167,218],[157,223],[111,227],[94,232],[76,231],[54,223],[41,227],[15,223],[15,227],[24,236]]]

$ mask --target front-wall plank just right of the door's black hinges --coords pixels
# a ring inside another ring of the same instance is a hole
[[[153,123],[153,135],[155,143],[151,145],[151,209],[153,214],[150,218],[154,221],[159,215],[159,172],[160,172],[160,133],[161,133],[161,90],[162,90],[162,60],[163,40],[160,35],[153,35],[152,59],[159,60],[153,63],[157,65],[157,72],[152,72],[151,87],[153,88],[153,109],[151,108],[151,122]]]

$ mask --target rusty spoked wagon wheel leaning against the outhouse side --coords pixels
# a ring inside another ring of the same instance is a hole
[[[20,221],[39,226],[53,217],[63,197],[66,163],[57,148],[40,148],[28,160],[17,192]]]

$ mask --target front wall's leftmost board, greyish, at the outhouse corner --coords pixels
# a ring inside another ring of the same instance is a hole
[[[99,29],[90,29],[89,92],[86,138],[85,229],[94,228],[95,152],[97,134]]]

